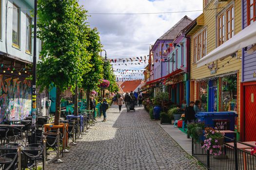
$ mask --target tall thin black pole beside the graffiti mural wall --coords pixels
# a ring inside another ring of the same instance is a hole
[[[32,132],[31,143],[36,143],[36,108],[37,108],[37,89],[36,89],[36,70],[37,70],[37,0],[34,0],[34,42],[33,42],[33,81],[32,81]]]

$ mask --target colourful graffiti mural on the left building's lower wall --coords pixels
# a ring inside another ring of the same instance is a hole
[[[0,122],[30,115],[31,95],[30,81],[0,74]]]

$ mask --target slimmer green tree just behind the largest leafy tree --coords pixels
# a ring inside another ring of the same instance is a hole
[[[98,89],[99,80],[103,78],[103,61],[98,55],[101,50],[101,44],[97,28],[89,30],[88,41],[90,45],[87,47],[87,51],[90,52],[92,56],[89,61],[92,68],[82,77],[82,87],[86,90],[87,109],[89,109],[90,92]]]

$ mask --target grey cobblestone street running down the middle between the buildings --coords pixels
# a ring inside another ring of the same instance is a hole
[[[144,108],[136,109],[119,113],[117,105],[111,106],[107,121],[98,118],[78,145],[60,157],[64,163],[50,160],[47,170],[205,170],[150,120]]]

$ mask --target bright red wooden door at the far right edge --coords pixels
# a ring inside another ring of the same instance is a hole
[[[256,141],[256,85],[244,89],[245,141]]]

